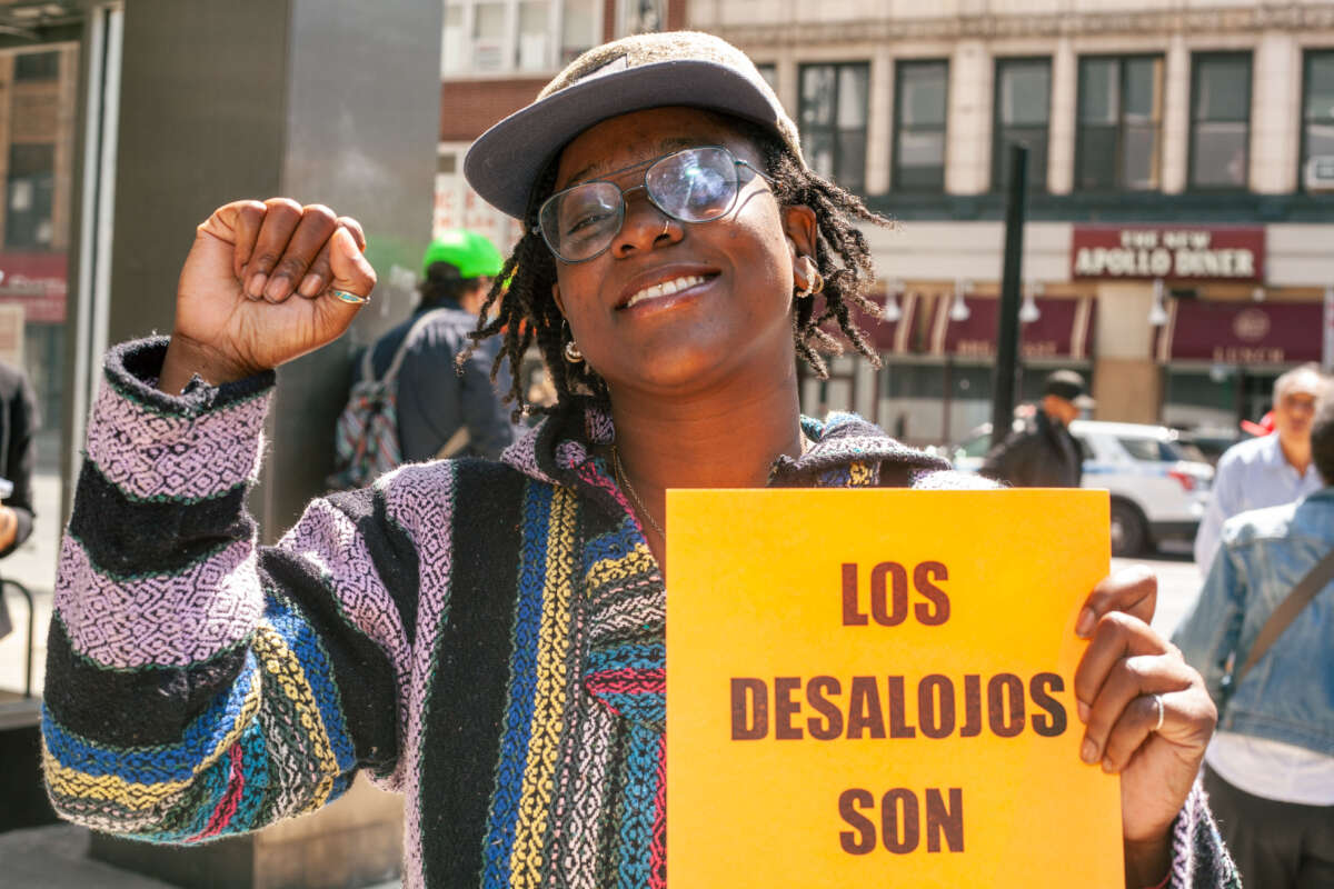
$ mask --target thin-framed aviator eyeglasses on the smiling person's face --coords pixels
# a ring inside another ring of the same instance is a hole
[[[536,231],[562,263],[584,263],[611,247],[626,221],[624,196],[630,192],[644,189],[654,207],[678,221],[711,223],[736,203],[739,167],[772,181],[720,145],[687,148],[651,161],[642,185],[623,189],[599,179],[556,192],[542,204]]]

